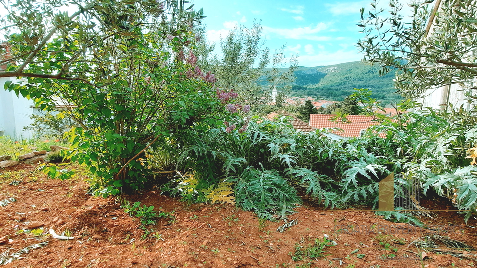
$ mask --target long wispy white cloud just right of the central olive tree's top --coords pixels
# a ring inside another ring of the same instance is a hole
[[[326,30],[327,28],[328,25],[321,22],[318,23],[316,26],[312,25],[294,29],[275,29],[264,26],[263,30],[266,34],[274,33],[285,39],[328,41],[331,40],[331,37],[317,35],[319,32]]]

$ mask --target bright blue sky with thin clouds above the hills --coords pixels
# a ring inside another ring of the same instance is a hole
[[[207,38],[218,47],[235,25],[251,27],[261,21],[265,46],[271,51],[286,45],[285,55],[298,54],[299,65],[314,67],[359,61],[356,42],[363,37],[356,25],[359,9],[370,1],[320,0],[193,0],[207,16]]]

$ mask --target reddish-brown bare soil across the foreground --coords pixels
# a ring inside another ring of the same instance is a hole
[[[255,214],[233,206],[198,205],[186,211],[177,199],[147,191],[124,198],[173,212],[175,220],[160,219],[149,226],[154,232],[142,239],[139,219],[125,213],[116,198],[91,197],[85,178],[46,179],[35,168],[21,165],[0,170],[0,201],[16,199],[0,207],[0,262],[25,247],[47,244],[22,253],[5,268],[471,268],[477,264],[472,260],[477,252],[471,249],[441,245],[448,253],[457,252],[459,257],[455,257],[409,246],[419,237],[439,234],[477,248],[477,231],[463,225],[463,215],[455,211],[436,212],[435,220],[422,218],[432,224],[431,230],[393,225],[373,211],[309,205],[289,217],[298,219],[298,224],[279,233],[276,230],[283,221],[266,222],[259,228]],[[425,202],[430,209],[452,210],[440,199]],[[476,224],[475,219],[469,221],[471,226]],[[24,231],[35,228],[43,228],[43,235]],[[75,239],[55,239],[47,235],[50,228],[59,235],[66,231]],[[323,241],[324,235],[337,243],[324,248],[326,256],[292,260],[297,247],[310,248],[317,238]]]

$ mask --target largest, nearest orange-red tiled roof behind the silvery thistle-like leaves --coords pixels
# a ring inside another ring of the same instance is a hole
[[[332,133],[342,137],[359,137],[363,129],[367,129],[378,123],[373,121],[373,117],[365,115],[348,115],[346,118],[349,123],[330,121],[332,114],[310,114],[310,126],[314,128],[339,128],[344,131],[332,131]],[[379,135],[384,137],[385,134]]]

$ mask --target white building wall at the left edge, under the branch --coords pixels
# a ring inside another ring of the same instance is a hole
[[[30,115],[33,113],[32,100],[28,100],[21,95],[16,96],[14,92],[4,89],[4,84],[8,80],[15,78],[0,78],[0,135],[10,136],[14,139],[29,139],[32,137],[30,131],[24,131],[23,127],[32,123]]]

